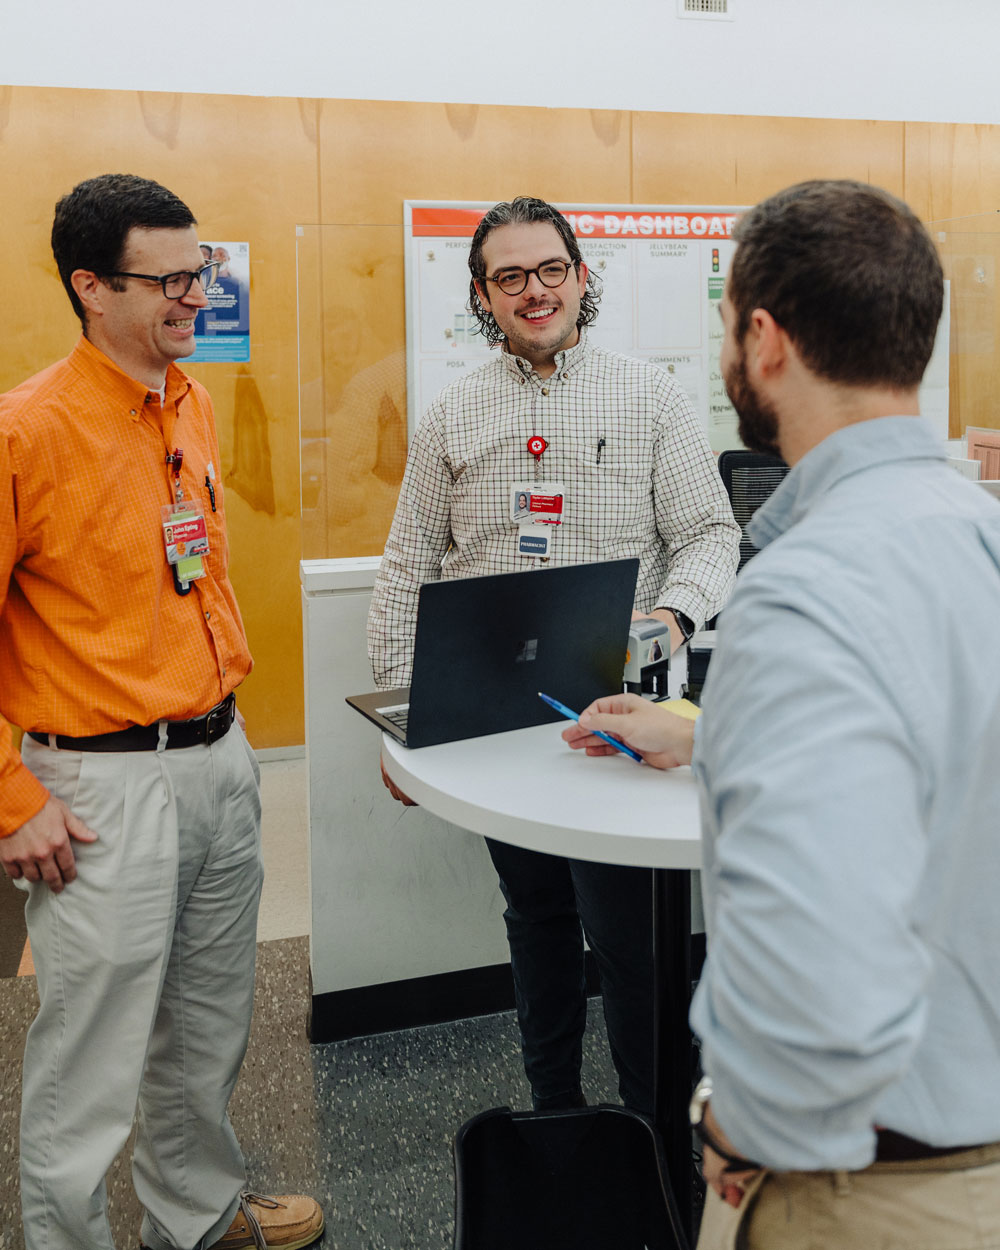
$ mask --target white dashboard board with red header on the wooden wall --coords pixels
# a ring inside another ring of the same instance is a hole
[[[469,248],[491,202],[405,200],[409,432],[459,374],[490,358],[469,311]],[[556,205],[601,281],[590,341],[649,360],[685,389],[712,451],[741,448],[719,368],[719,301],[742,208]],[[950,284],[920,409],[948,438]],[[499,350],[499,349],[496,349]]]

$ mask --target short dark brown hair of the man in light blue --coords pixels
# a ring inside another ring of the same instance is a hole
[[[726,291],[742,342],[756,308],[821,378],[916,386],[941,316],[930,235],[894,195],[848,180],[799,182],[736,222]]]

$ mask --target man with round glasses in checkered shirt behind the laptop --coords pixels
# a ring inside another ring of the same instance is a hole
[[[729,596],[740,541],[690,400],[662,370],[588,341],[598,292],[550,204],[521,198],[490,209],[469,268],[471,309],[501,350],[446,386],[414,436],[369,616],[376,684],[410,681],[422,582],[535,565],[512,514],[522,484],[565,491],[541,559],[638,556],[635,615],[664,621],[676,649]],[[540,456],[530,439],[545,441]],[[585,931],[621,1098],[651,1112],[649,870],[486,845],[508,904],[534,1106],[584,1102]]]

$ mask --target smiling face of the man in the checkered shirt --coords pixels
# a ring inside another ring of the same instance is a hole
[[[546,260],[570,260],[559,231],[549,221],[498,226],[482,244],[488,278],[496,278],[505,269],[536,269]],[[476,282],[479,298],[504,331],[509,350],[529,360],[542,378],[555,371],[556,352],[571,348],[580,338],[576,322],[585,289],[582,261],[570,269],[561,286],[542,286],[538,274],[532,274],[520,295],[505,295],[495,282]]]

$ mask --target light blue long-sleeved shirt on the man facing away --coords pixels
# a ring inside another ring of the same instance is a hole
[[[919,418],[751,522],[699,721],[712,1110],[779,1169],[1000,1139],[1000,505]]]

